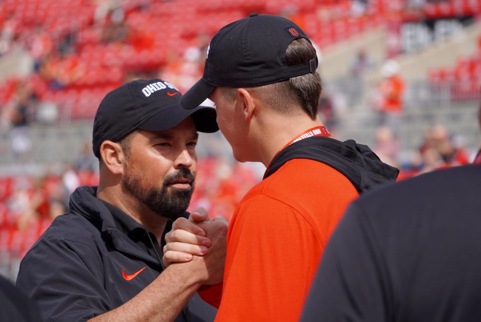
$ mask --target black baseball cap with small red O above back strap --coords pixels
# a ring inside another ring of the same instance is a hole
[[[184,109],[195,109],[218,86],[254,87],[315,72],[317,57],[287,66],[287,46],[307,35],[292,21],[250,14],[217,32],[207,49],[204,76],[181,98]]]

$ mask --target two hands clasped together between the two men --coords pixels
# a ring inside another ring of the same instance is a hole
[[[166,234],[164,265],[192,265],[192,272],[204,285],[222,282],[229,224],[223,217],[213,220],[199,207],[189,219],[179,218]]]

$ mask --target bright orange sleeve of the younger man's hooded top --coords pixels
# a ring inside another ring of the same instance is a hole
[[[297,321],[322,251],[289,205],[265,195],[243,202],[229,228],[215,321]]]

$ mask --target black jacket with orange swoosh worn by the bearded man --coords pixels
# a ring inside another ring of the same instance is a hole
[[[45,321],[86,321],[105,313],[163,271],[162,254],[157,258],[146,251],[153,246],[149,239],[142,248],[137,244],[141,236],[134,242],[119,230],[95,189],[77,188],[70,197],[70,212],[57,217],[22,260],[17,286],[37,301]],[[135,278],[124,278],[124,273],[128,277],[143,267]],[[213,321],[215,313],[195,294],[176,321]]]

